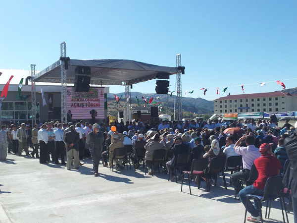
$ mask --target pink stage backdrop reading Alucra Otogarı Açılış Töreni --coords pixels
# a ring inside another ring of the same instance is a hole
[[[104,88],[90,88],[89,92],[75,92],[67,87],[67,112],[71,110],[72,119],[91,119],[91,111],[96,118],[104,118]]]

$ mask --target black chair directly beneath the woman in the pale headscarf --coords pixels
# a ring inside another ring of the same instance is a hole
[[[211,158],[211,160],[209,162],[209,168],[208,168],[206,174],[208,174],[209,177],[215,176],[214,186],[216,186],[217,176],[221,172],[222,176],[223,176],[224,187],[225,187],[225,189],[227,189],[225,173],[224,173],[225,161],[226,161],[225,157],[213,157],[213,158]],[[210,186],[209,186],[208,189],[210,191]]]

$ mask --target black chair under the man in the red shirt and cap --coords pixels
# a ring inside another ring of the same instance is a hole
[[[284,190],[284,184],[283,184],[283,178],[284,175],[279,175],[279,176],[271,176],[267,179],[266,184],[265,184],[265,188],[264,188],[264,194],[263,196],[259,196],[259,195],[253,195],[253,194],[247,194],[247,202],[250,199],[254,199],[254,202],[258,202],[260,210],[259,210],[259,214],[261,217],[261,222],[263,223],[263,217],[262,217],[262,202],[266,201],[266,211],[265,211],[265,218],[267,217],[267,209],[268,209],[268,203],[270,201],[270,205],[269,205],[269,212],[268,212],[268,219],[269,219],[269,215],[270,215],[270,207],[271,207],[271,202],[273,200],[275,200],[276,198],[280,198],[280,203],[281,203],[281,208],[282,208],[282,214],[283,214],[283,220],[285,223],[285,216],[284,216],[284,209],[283,209],[283,200],[281,199],[280,195]],[[285,204],[284,204],[285,206]],[[247,205],[246,205],[247,207]],[[285,206],[285,211],[286,211],[286,206]],[[286,212],[287,215],[287,212]],[[245,212],[245,222],[246,223],[246,219],[247,219],[247,209]],[[288,216],[287,216],[287,220],[288,220]]]

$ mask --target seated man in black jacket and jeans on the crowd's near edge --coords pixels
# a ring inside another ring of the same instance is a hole
[[[173,181],[174,178],[176,177],[174,169],[177,167],[178,155],[182,154],[182,153],[188,153],[189,145],[184,144],[182,138],[176,138],[170,148],[170,151],[173,152],[173,157],[172,157],[171,161],[168,161],[166,163],[166,167],[167,167],[168,172],[171,168],[171,171],[170,171],[170,172],[172,172],[171,181]],[[182,167],[180,167],[180,171],[181,172],[183,171]]]

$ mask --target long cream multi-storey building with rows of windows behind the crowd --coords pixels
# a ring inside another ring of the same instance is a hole
[[[213,111],[217,114],[297,111],[297,95],[281,91],[228,95],[213,100]]]

